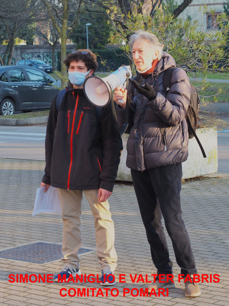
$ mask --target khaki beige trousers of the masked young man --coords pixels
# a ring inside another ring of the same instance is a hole
[[[58,188],[63,219],[62,261],[64,267],[79,268],[81,258],[78,250],[82,245],[80,216],[83,192],[95,221],[96,250],[100,268],[114,271],[117,266],[114,222],[111,219],[108,201],[98,203],[98,189],[82,191]]]

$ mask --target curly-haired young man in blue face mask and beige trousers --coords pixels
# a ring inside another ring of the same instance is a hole
[[[98,118],[96,106],[83,92],[85,78],[96,71],[96,55],[91,50],[77,50],[64,61],[69,81],[60,106],[54,97],[45,138],[45,174],[41,187],[58,188],[63,219],[63,264],[55,282],[66,276],[74,278],[79,270],[78,250],[82,244],[82,192],[95,220],[96,250],[101,269],[101,285],[114,285],[113,271],[117,254],[114,248],[114,223],[109,211],[111,196],[120,162],[122,139],[111,103]]]

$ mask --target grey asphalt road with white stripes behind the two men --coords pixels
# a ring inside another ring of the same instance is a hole
[[[0,126],[0,157],[45,160],[46,125]],[[229,130],[217,133],[218,172],[229,173]]]

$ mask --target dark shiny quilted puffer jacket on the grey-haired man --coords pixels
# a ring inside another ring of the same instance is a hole
[[[191,95],[189,78],[183,69],[175,68],[167,96],[162,84],[164,71],[175,66],[172,56],[164,52],[154,72],[143,78],[142,85],[148,83],[156,91],[152,101],[148,101],[130,86],[128,94],[131,94],[136,106],[136,110],[130,112],[127,140],[126,165],[131,169],[143,171],[187,159],[188,132],[184,116]],[[124,113],[118,107],[120,127],[123,125]]]

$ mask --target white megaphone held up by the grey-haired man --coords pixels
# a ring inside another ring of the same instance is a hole
[[[83,84],[83,91],[90,103],[95,106],[104,107],[111,100],[111,90],[125,83],[127,78],[132,76],[130,66],[121,66],[109,76],[100,78],[89,76]]]

